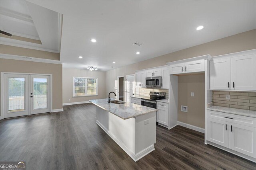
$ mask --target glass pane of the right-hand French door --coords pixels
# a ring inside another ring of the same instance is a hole
[[[33,107],[47,108],[47,78],[33,78]]]

